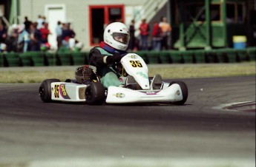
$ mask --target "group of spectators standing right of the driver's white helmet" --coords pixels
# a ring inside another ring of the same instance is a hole
[[[140,35],[135,35],[136,30],[140,32]],[[129,32],[128,50],[130,51],[171,49],[171,24],[168,24],[166,17],[160,18],[160,21],[154,21],[152,25],[148,24],[146,19],[143,18],[140,27],[137,28],[135,27],[135,21],[131,20]]]

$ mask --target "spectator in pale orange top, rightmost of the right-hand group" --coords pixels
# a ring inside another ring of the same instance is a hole
[[[167,18],[162,17],[161,22],[159,24],[161,30],[162,30],[162,41],[161,41],[161,47],[162,50],[168,50],[168,38],[171,35],[171,25],[167,23]]]

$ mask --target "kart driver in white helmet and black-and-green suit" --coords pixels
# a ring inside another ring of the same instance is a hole
[[[105,88],[108,86],[122,86],[119,74],[112,68],[119,62],[122,55],[127,53],[129,32],[125,24],[114,22],[108,24],[104,30],[104,41],[99,47],[93,47],[89,53],[89,64],[96,67],[97,75]]]

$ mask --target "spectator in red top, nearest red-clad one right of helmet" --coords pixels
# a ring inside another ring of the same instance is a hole
[[[146,23],[146,19],[142,19],[142,23],[140,24],[140,37],[141,37],[141,49],[148,50],[148,33],[149,26]]]

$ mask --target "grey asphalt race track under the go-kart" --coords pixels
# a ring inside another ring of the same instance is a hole
[[[255,167],[255,76],[179,79],[184,106],[43,103],[0,84],[0,166]]]

